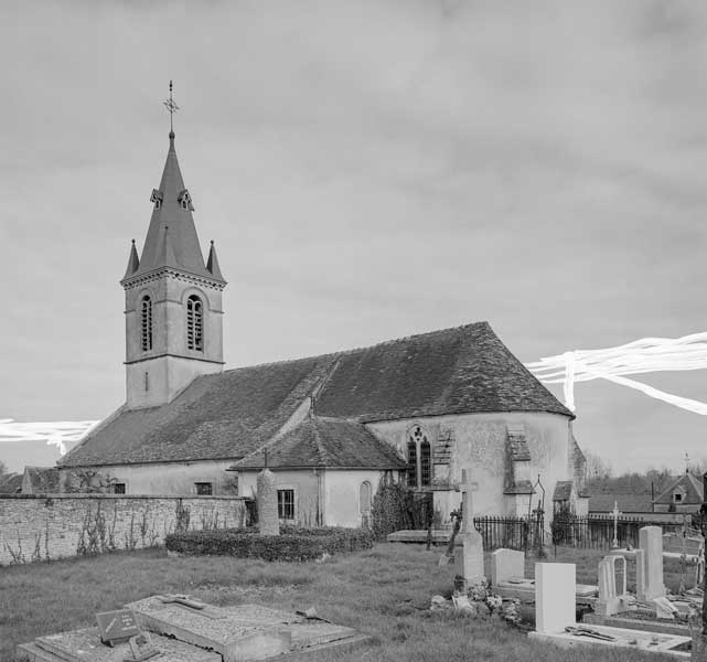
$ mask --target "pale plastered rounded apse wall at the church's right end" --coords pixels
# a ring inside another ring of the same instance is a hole
[[[526,471],[533,483],[540,474],[546,492],[545,512],[549,520],[555,484],[559,480],[574,478],[568,476],[569,419],[566,416],[535,412],[461,414],[369,423],[366,427],[378,438],[395,446],[404,457],[408,435],[414,426],[422,427],[432,448],[441,434],[451,433],[454,442],[449,465],[435,466],[436,476],[442,474],[451,489],[436,493],[436,508],[446,521],[449,511],[458,508],[461,501],[460,492],[453,490],[459,488],[461,470],[464,468],[471,469],[472,481],[478,485],[474,491],[474,510],[478,514],[515,515],[524,510],[517,505],[517,499],[504,495],[508,424],[523,424],[525,427],[531,452]],[[533,508],[540,494],[538,490],[533,496]],[[524,504],[527,509],[527,498],[524,498]],[[525,512],[527,514],[527,510]]]

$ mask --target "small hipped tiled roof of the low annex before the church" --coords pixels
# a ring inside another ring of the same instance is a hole
[[[311,416],[267,447],[269,469],[322,467],[338,469],[405,469],[395,449],[364,425]],[[234,469],[263,469],[265,452],[257,450]]]

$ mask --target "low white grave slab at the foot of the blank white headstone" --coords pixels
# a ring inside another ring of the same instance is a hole
[[[690,658],[689,651],[674,650],[677,647],[688,644],[692,641],[689,637],[660,634],[624,628],[610,628],[608,626],[591,626],[591,629],[600,632],[601,634],[614,637],[615,641],[604,641],[602,639],[592,639],[589,637],[575,637],[569,632],[528,632],[528,637],[537,641],[555,643],[561,648],[571,648],[576,645],[629,648],[640,651],[662,653],[664,655],[673,655],[683,660],[689,660]]]

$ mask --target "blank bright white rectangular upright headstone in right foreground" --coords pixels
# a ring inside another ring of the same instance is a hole
[[[577,617],[574,563],[535,564],[535,631],[542,634],[565,632]]]

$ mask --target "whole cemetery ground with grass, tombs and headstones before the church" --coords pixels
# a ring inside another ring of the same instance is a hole
[[[460,525],[441,554],[431,545],[395,543],[339,545],[331,555],[290,554],[286,560],[210,549],[165,557],[154,548],[87,557],[81,567],[68,560],[33,564],[39,570],[31,580],[21,565],[3,568],[8,590],[0,600],[25,609],[15,608],[14,627],[0,623],[0,659],[315,661],[334,654],[357,660],[367,651],[403,660],[411,650],[417,655],[422,641],[444,641],[449,659],[493,649],[492,660],[563,660],[567,647],[588,661],[597,647],[621,650],[621,659],[703,659],[693,641],[701,644],[704,547],[694,549],[697,563],[685,552],[688,540],[697,540],[694,532],[685,527],[679,559],[664,555],[664,540],[675,541],[658,526],[642,527],[639,547],[630,551],[490,551],[473,525],[467,470],[462,487]],[[268,534],[254,535],[287,537],[266,499],[258,517]],[[499,627],[507,643],[494,641]]]

